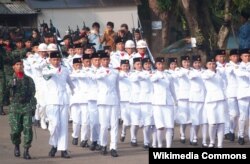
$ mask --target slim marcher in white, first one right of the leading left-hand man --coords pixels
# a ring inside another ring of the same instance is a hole
[[[89,138],[89,112],[88,112],[88,75],[82,70],[82,59],[73,59],[73,72],[70,78],[75,86],[74,95],[70,98],[72,115],[72,144],[78,145],[81,133],[81,147],[86,147]]]

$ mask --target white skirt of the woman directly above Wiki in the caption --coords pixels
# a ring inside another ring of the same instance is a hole
[[[153,116],[157,129],[174,128],[174,106],[153,105]]]

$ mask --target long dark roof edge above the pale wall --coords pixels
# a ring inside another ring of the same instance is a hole
[[[137,6],[140,0],[26,0],[33,9]]]

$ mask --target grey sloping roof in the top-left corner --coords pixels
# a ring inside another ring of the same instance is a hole
[[[25,2],[4,0],[0,3],[0,14],[37,14],[37,12],[31,9]]]

